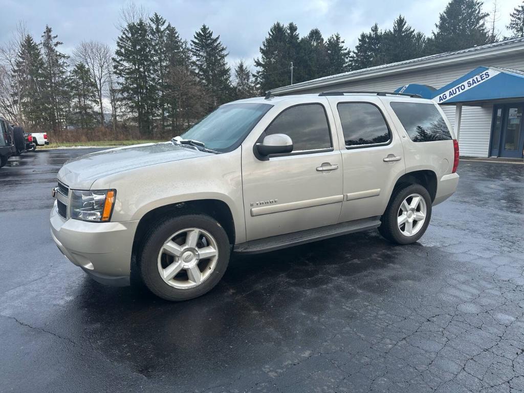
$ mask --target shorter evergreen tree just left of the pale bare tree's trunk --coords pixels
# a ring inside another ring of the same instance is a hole
[[[70,124],[81,129],[96,124],[93,105],[97,102],[96,85],[85,64],[77,63],[71,71],[71,115]]]

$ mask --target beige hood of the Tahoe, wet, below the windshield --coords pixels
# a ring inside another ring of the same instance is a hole
[[[210,154],[171,142],[117,147],[67,161],[58,179],[70,188],[89,190],[95,180],[110,174]]]

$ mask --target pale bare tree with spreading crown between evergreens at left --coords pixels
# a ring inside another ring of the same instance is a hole
[[[89,70],[91,78],[96,85],[96,94],[100,107],[100,125],[104,126],[104,94],[108,91],[111,79],[110,47],[99,41],[82,41],[73,51],[74,61],[83,63]]]

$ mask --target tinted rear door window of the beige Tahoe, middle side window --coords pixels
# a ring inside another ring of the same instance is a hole
[[[391,137],[384,116],[373,104],[337,105],[346,146],[387,144]]]

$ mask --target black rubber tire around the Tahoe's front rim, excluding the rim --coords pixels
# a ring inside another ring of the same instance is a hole
[[[160,277],[158,255],[164,242],[185,228],[199,228],[211,234],[218,248],[218,258],[208,278],[196,287],[180,289],[170,286]],[[152,225],[144,238],[143,246],[138,252],[140,277],[146,287],[162,299],[170,301],[193,299],[209,292],[220,281],[229,263],[230,252],[231,247],[224,228],[212,217],[191,213],[167,217],[160,223]]]

